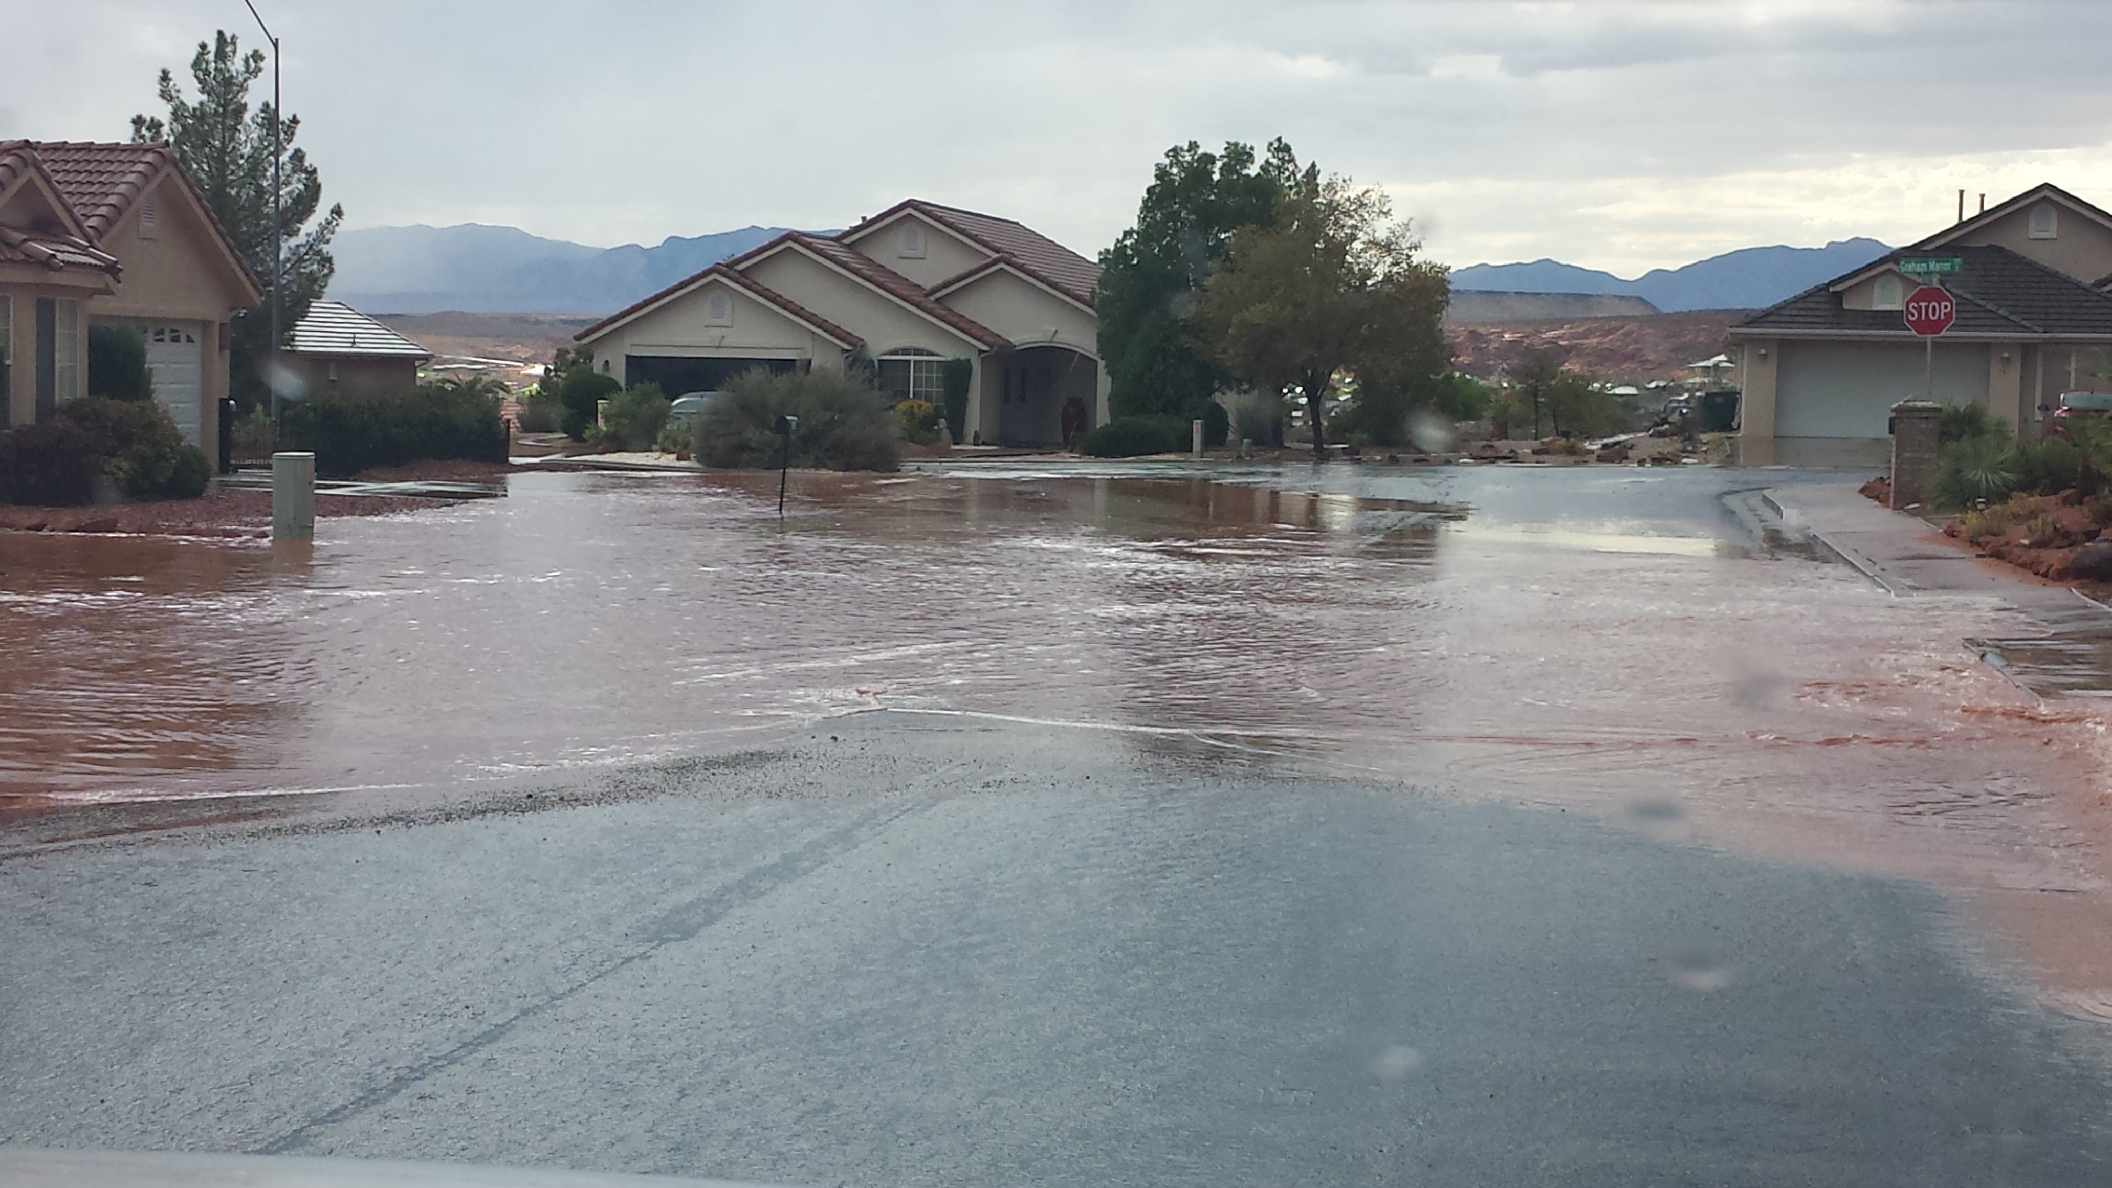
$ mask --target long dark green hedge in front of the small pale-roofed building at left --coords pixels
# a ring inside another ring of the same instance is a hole
[[[315,452],[317,474],[334,476],[425,459],[507,461],[498,400],[441,385],[384,400],[302,400],[285,410],[285,438]]]

